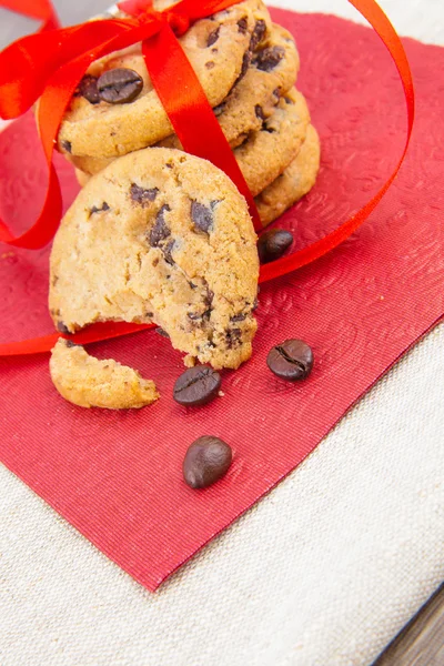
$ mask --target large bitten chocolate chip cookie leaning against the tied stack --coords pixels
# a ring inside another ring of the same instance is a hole
[[[80,192],[56,235],[50,310],[60,331],[151,321],[215,369],[238,367],[256,331],[256,235],[245,200],[210,162],[149,148]]]

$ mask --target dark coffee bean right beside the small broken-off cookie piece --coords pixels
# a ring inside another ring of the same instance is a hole
[[[221,387],[221,375],[208,365],[195,365],[176,380],[173,389],[175,402],[185,407],[204,405],[212,401]]]

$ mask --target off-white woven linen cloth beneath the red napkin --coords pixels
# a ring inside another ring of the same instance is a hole
[[[382,4],[444,43],[442,0]],[[0,467],[1,666],[370,665],[444,578],[443,377],[441,325],[157,594]]]

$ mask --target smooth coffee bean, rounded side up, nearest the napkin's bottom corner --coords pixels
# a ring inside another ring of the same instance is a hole
[[[206,435],[199,437],[186,451],[183,460],[183,478],[191,488],[206,488],[229,471],[233,460],[231,447]]]

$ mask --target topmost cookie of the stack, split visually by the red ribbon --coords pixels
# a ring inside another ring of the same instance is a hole
[[[220,104],[245,73],[252,50],[268,37],[270,28],[270,14],[261,0],[244,0],[196,21],[180,38],[212,107]],[[102,84],[100,77],[112,70],[118,73],[107,74],[110,81]],[[131,78],[132,83],[128,82]],[[142,83],[139,94],[134,91],[135,81]],[[108,103],[110,94],[103,91],[113,93],[113,103]],[[103,101],[103,97],[108,101]],[[119,100],[125,103],[114,103]],[[91,64],[65,113],[58,144],[65,154],[111,158],[152,145],[171,133],[171,123],[152,87],[141,46],[135,44]]]

